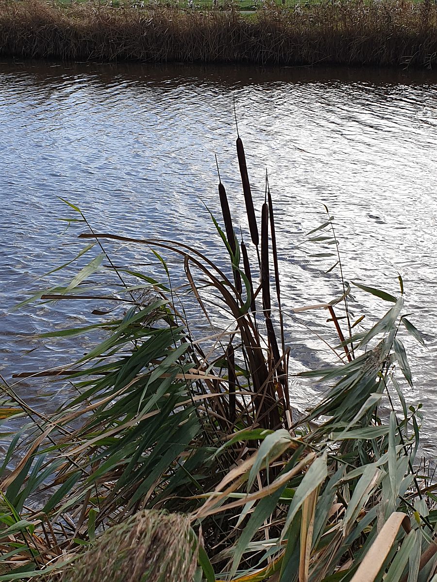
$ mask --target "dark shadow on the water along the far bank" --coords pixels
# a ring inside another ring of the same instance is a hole
[[[128,83],[161,85],[169,89],[185,84],[206,84],[224,89],[262,87],[276,83],[366,83],[374,86],[427,85],[437,83],[433,70],[347,67],[260,67],[251,65],[202,65],[189,63],[96,63],[8,61],[0,62],[2,82],[9,75],[27,77],[33,86],[57,86],[74,77],[89,77],[96,84]],[[133,87],[132,87],[133,88]]]

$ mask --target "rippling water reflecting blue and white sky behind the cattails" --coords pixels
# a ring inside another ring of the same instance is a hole
[[[437,421],[437,73],[353,69],[51,65],[0,63],[1,373],[55,366],[72,357],[66,342],[38,332],[93,322],[93,307],[59,302],[10,313],[37,276],[68,261],[84,230],[59,218],[78,204],[93,228],[167,237],[215,256],[219,245],[202,201],[218,215],[214,153],[235,223],[247,232],[235,156],[232,93],[258,210],[269,170],[276,207],[291,371],[329,361],[317,334],[333,339],[320,311],[291,309],[341,292],[332,258],[302,246],[329,207],[348,280],[399,293],[425,333],[427,348],[406,339],[415,388],[408,402],[425,409],[425,450]],[[323,250],[322,250],[323,252]],[[131,262],[145,263],[142,249]],[[147,272],[148,267],[140,267]],[[154,269],[154,267],[150,267]],[[58,273],[49,281],[64,281]],[[48,286],[46,282],[44,284]],[[44,286],[43,285],[43,286]],[[382,304],[353,294],[355,317]],[[307,327],[306,327],[307,326]],[[309,327],[309,328],[308,328]],[[81,348],[82,346],[79,346]],[[29,352],[29,350],[31,350]],[[40,410],[65,395],[36,382],[17,392]],[[292,398],[315,398],[294,384]]]

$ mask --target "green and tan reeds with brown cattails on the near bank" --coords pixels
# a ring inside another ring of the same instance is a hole
[[[235,236],[220,184],[227,224],[224,232],[212,217],[212,228],[228,267],[185,244],[91,231],[80,238],[97,256],[36,296],[72,306],[94,297],[97,307],[109,298],[115,308],[100,324],[44,334],[103,333],[71,367],[36,372],[75,387],[57,413],[35,417],[3,386],[2,416],[28,422],[0,469],[0,580],[434,580],[435,496],[414,468],[420,412],[400,388],[412,382],[401,336],[423,340],[403,313],[401,280],[396,297],[355,284],[387,304],[379,320],[369,314],[370,327],[351,320],[345,281],[339,297],[307,308],[330,314],[339,345],[333,365],[301,374],[324,387],[302,418],[288,384],[286,314],[276,315],[272,194],[266,184],[258,257],[257,244]],[[332,220],[309,233],[313,243],[337,246]],[[166,280],[115,267],[110,240],[151,253]],[[171,285],[168,255],[181,259],[182,288]],[[341,282],[339,267],[331,272]],[[191,331],[186,301],[209,322],[207,336]]]

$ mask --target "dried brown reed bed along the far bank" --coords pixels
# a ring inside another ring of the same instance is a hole
[[[437,5],[375,0],[238,10],[6,2],[0,53],[26,58],[431,67]]]

